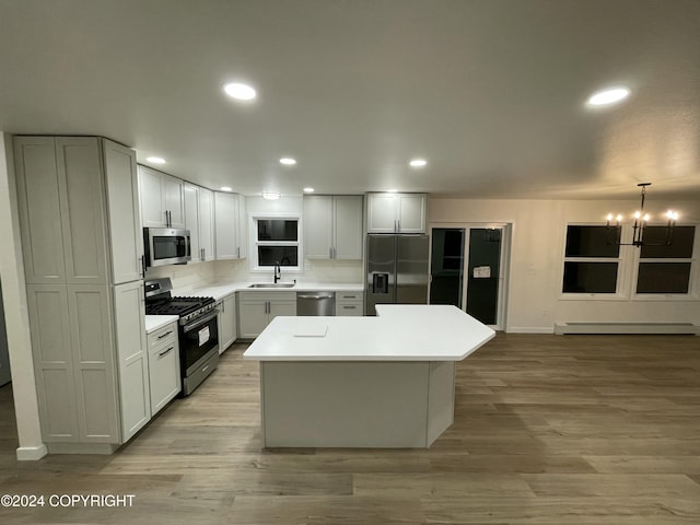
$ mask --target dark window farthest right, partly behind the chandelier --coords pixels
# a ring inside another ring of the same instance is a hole
[[[690,292],[695,226],[674,228],[673,243],[668,246],[642,246],[637,271],[638,294],[688,294]],[[644,242],[663,244],[666,226],[644,228]]]

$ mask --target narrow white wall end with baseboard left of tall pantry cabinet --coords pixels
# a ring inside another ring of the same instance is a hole
[[[18,421],[19,459],[38,459],[46,454],[42,442],[38,402],[34,382],[34,362],[30,337],[30,316],[24,282],[24,261],[12,163],[12,138],[2,133],[0,141],[0,279],[4,305],[12,390]]]

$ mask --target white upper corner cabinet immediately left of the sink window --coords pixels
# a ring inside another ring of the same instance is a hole
[[[246,257],[245,199],[236,194],[214,191],[214,252],[217,259]]]

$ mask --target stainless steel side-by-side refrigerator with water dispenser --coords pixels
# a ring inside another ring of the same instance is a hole
[[[377,304],[428,304],[428,235],[368,235],[366,315]]]

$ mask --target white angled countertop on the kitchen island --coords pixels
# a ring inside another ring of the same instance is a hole
[[[243,357],[258,361],[462,361],[495,336],[456,306],[383,304],[376,311],[377,317],[276,317]]]

